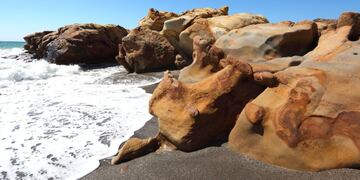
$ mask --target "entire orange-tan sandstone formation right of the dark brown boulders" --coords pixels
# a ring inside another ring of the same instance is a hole
[[[165,21],[167,39],[194,61],[179,79],[165,73],[153,93],[158,135],[129,140],[113,163],[228,137],[232,150],[286,168],[360,165],[360,14],[244,26],[214,14]],[[235,29],[219,30],[211,19]],[[185,34],[192,48],[180,45]]]

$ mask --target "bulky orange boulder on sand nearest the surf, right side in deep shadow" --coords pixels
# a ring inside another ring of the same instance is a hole
[[[165,74],[150,100],[160,134],[183,151],[193,151],[226,137],[243,106],[262,92],[251,82],[251,67],[241,61],[196,83]],[[249,91],[251,89],[251,91]]]

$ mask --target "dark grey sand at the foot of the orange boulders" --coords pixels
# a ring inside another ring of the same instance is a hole
[[[176,71],[174,74],[177,75]],[[141,87],[152,93],[158,83]],[[132,137],[148,138],[158,133],[158,120],[152,117]],[[120,147],[123,145],[122,143]],[[97,179],[358,179],[358,169],[342,168],[320,172],[285,169],[229,150],[228,143],[194,152],[165,151],[149,153],[133,160],[111,165],[111,157],[100,160],[97,169],[82,180]]]

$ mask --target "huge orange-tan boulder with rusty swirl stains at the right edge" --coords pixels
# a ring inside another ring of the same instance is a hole
[[[360,41],[350,41],[359,14],[348,15],[246,105],[229,136],[233,150],[300,170],[360,165]]]

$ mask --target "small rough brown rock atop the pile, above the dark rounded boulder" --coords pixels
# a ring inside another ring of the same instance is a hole
[[[142,27],[147,27],[151,30],[161,31],[164,22],[178,17],[177,14],[172,12],[158,11],[156,9],[149,9],[147,16],[140,20],[139,24]]]

